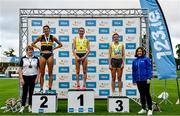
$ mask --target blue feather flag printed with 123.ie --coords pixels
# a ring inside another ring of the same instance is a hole
[[[171,38],[161,7],[157,0],[140,0],[140,3],[142,8],[149,9],[150,42],[158,78],[176,78]]]

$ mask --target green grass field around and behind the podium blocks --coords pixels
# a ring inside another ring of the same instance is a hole
[[[157,96],[164,91],[164,80],[153,80],[151,82],[151,95],[153,101],[159,103],[161,99],[157,99]],[[180,79],[179,79],[180,83]],[[169,93],[169,100],[173,104],[160,104],[162,112],[154,112],[155,115],[180,115],[180,105],[176,105],[178,99],[177,85],[175,80],[167,80],[167,92]],[[18,98],[18,80],[17,79],[0,79],[0,107],[4,106],[5,100],[8,98]],[[80,115],[75,113],[67,113],[67,100],[59,100],[58,112],[56,115]],[[130,113],[108,113],[107,112],[107,100],[95,100],[95,113],[91,115],[137,115],[140,110],[135,102],[130,101]],[[4,115],[17,115],[18,113],[3,113],[0,110],[0,114]],[[24,113],[26,115],[33,115],[32,113]],[[35,114],[34,114],[35,115]],[[41,115],[41,114],[40,114]],[[55,114],[50,114],[55,115]],[[87,115],[87,114],[81,114]],[[90,115],[90,114],[89,114]]]

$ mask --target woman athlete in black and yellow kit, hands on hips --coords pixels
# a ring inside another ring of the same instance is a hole
[[[45,66],[46,62],[48,65],[48,75],[49,75],[49,93],[51,93],[52,83],[53,83],[53,51],[55,49],[61,48],[62,43],[57,40],[57,38],[53,35],[50,35],[50,27],[48,25],[43,26],[43,35],[38,36],[38,38],[32,43],[32,46],[40,50],[40,93],[43,93],[43,85],[44,85],[44,74],[45,74]],[[36,46],[37,42],[41,42],[41,48]],[[53,43],[56,42],[58,44],[57,47],[53,48]]]

